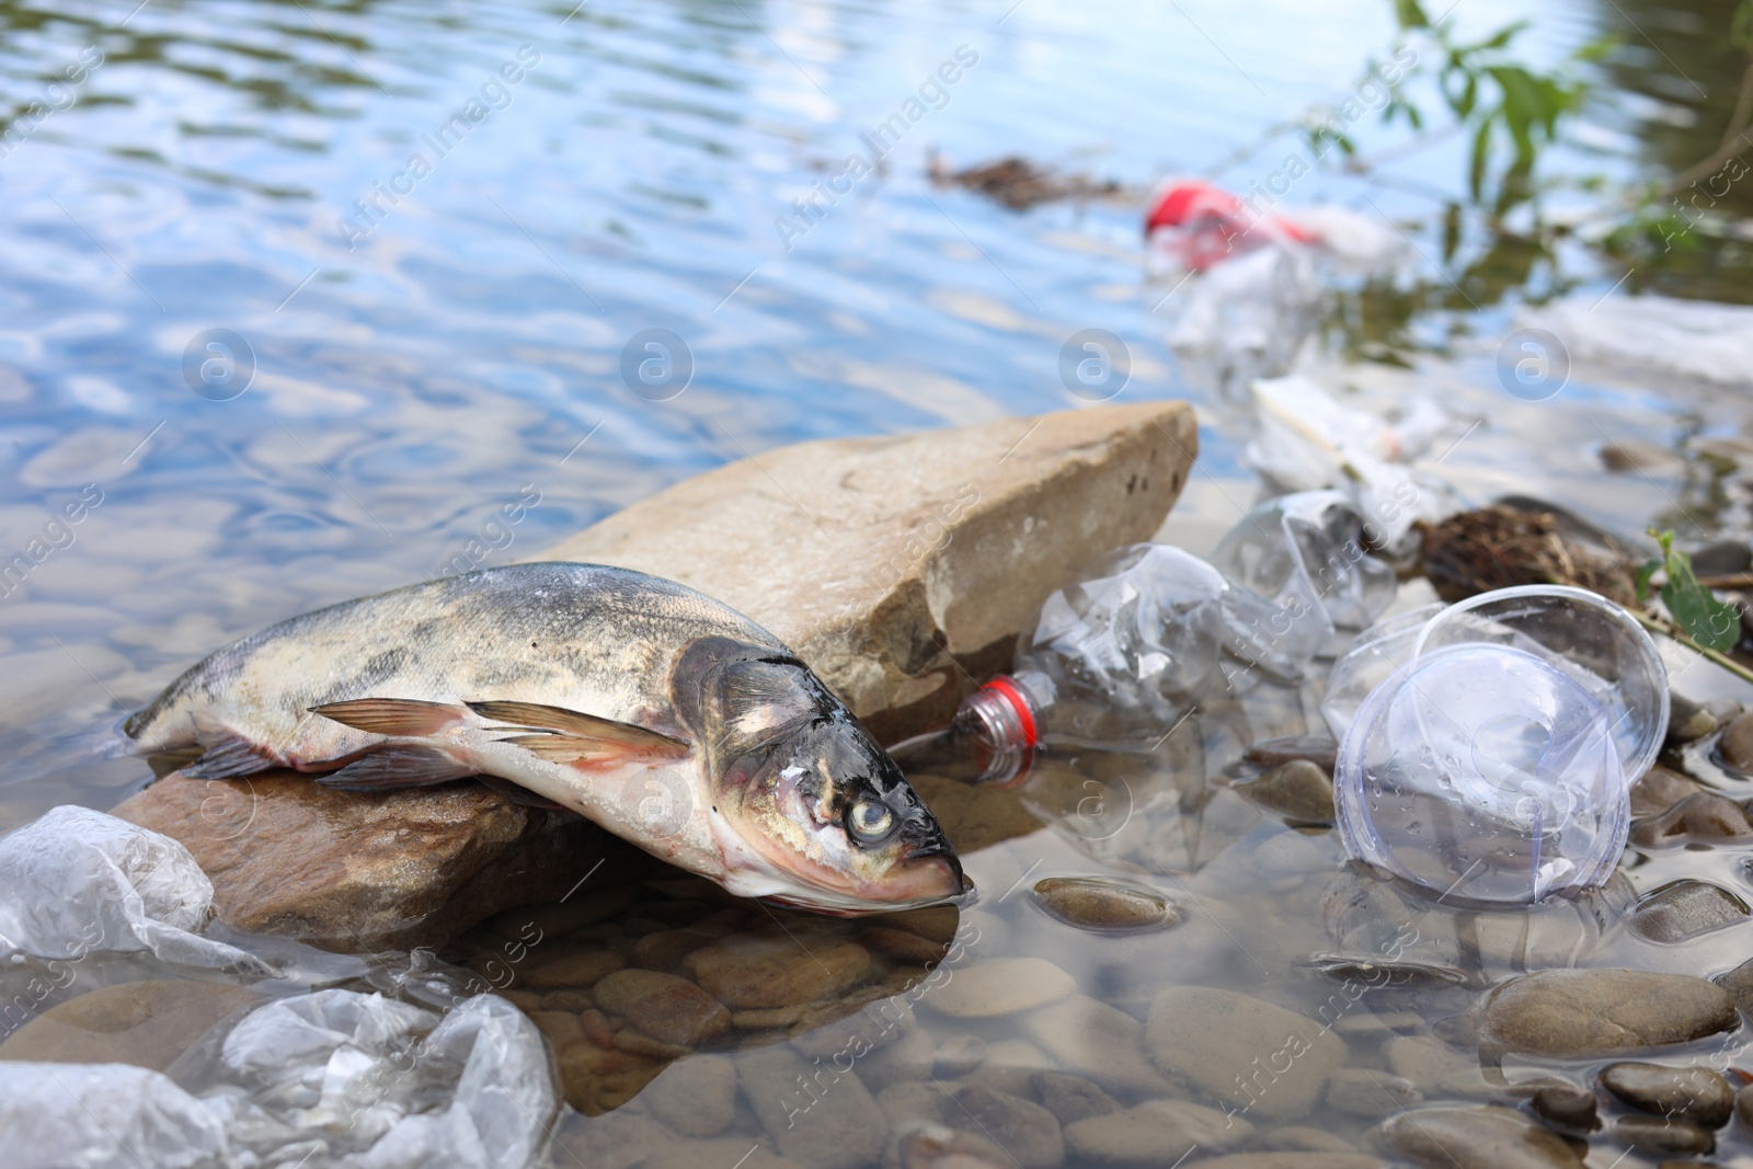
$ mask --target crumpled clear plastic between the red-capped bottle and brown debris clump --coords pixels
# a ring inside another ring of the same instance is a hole
[[[1394,603],[1397,584],[1366,547],[1364,517],[1338,491],[1299,491],[1248,512],[1218,540],[1211,566],[1288,620],[1283,631],[1253,626],[1245,655],[1295,662],[1276,671],[1295,677],[1311,657],[1338,648],[1338,629],[1369,626]]]

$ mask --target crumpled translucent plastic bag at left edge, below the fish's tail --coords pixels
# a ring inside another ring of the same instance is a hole
[[[145,950],[181,966],[273,973],[198,934],[212,899],[179,841],[91,808],[51,808],[0,838],[0,957]]]

